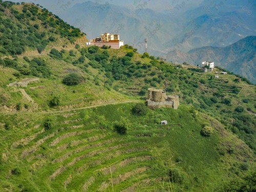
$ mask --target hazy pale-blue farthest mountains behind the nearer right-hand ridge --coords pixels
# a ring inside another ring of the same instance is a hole
[[[83,30],[89,38],[119,33],[125,43],[142,53],[147,38],[147,51],[159,56],[174,49],[187,52],[204,46],[225,47],[255,35],[254,2],[203,1],[190,9],[188,4],[173,2],[157,12],[148,9],[147,2],[127,7],[84,2],[62,11],[60,17],[75,27],[86,26]]]

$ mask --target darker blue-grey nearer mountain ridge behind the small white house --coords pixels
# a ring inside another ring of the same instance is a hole
[[[256,82],[256,36],[245,37],[238,42],[221,47],[203,47],[190,50],[188,53],[175,50],[169,53],[168,59],[173,62],[186,61],[192,65],[201,65],[204,60],[215,61],[216,66]]]

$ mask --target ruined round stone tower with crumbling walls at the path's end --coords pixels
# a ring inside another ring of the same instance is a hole
[[[148,108],[174,108],[178,109],[180,105],[178,95],[166,95],[165,90],[150,88],[147,90],[147,106]]]

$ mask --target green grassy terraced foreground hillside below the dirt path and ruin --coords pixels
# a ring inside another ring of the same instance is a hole
[[[218,121],[185,106],[138,117],[131,114],[133,106],[1,115],[13,121],[9,129],[1,124],[0,189],[212,191],[224,178],[237,177],[239,167],[254,167],[248,146]],[[160,119],[168,124],[159,125]],[[125,122],[127,134],[115,131],[116,121]],[[205,123],[215,129],[209,138],[200,135]]]

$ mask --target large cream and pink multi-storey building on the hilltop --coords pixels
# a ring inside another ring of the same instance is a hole
[[[104,33],[100,35],[100,37],[91,39],[88,45],[95,45],[98,47],[105,45],[111,46],[112,49],[119,49],[123,46],[123,41],[120,40],[120,36],[118,34]]]

